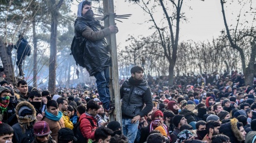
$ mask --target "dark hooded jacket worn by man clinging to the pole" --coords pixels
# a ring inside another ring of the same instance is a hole
[[[111,54],[109,53],[104,38],[110,35],[109,28],[101,29],[99,21],[87,19],[81,16],[83,2],[79,3],[77,10],[77,19],[74,22],[75,45],[79,45],[83,53],[83,63],[80,65],[89,72],[90,76],[111,66]],[[87,11],[88,12],[88,11]]]

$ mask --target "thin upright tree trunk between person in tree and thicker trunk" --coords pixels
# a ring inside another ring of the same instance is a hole
[[[35,33],[35,19],[33,20],[33,44],[34,44],[34,55],[33,55],[33,86],[37,87],[37,35]]]

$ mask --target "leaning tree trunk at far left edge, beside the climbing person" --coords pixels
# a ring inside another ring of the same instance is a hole
[[[16,79],[14,77],[14,72],[13,72],[12,58],[10,58],[10,55],[7,54],[7,49],[3,44],[1,37],[0,37],[0,57],[3,63],[3,68],[4,68],[3,72],[5,73],[5,80],[7,82],[12,83],[13,85],[16,85]]]

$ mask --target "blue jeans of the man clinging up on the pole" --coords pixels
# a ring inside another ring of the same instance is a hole
[[[97,72],[94,77],[96,78],[97,90],[99,93],[99,100],[101,100],[104,109],[109,109],[110,96],[109,96],[109,68],[105,68],[101,72]]]

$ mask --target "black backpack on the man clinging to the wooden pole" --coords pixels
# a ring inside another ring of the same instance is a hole
[[[84,48],[83,48],[83,46],[85,46],[85,41],[83,40],[83,38],[80,38],[80,39],[74,36],[71,47],[70,47],[70,50],[71,50],[70,55],[73,55],[74,60],[76,61],[76,65],[80,65],[81,67],[85,68]]]

